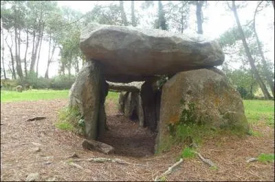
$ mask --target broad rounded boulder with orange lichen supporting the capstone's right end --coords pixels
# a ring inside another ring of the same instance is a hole
[[[167,126],[179,120],[239,131],[249,129],[239,92],[228,79],[208,69],[177,73],[164,84],[157,144],[168,136]]]

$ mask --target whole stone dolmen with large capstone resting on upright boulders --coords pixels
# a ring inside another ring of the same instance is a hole
[[[225,60],[215,40],[93,23],[81,32],[80,49],[86,62],[70,90],[69,106],[82,114],[88,139],[106,130],[104,101],[115,88],[128,89],[120,94],[119,108],[157,132],[156,148],[170,136],[169,126],[179,122],[249,129],[239,92],[214,67]],[[126,86],[133,81],[142,84]]]

